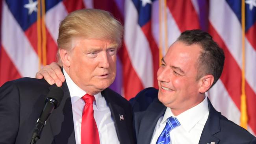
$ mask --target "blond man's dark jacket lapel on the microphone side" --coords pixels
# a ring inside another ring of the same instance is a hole
[[[54,135],[53,143],[75,144],[72,105],[66,82],[63,83],[62,89],[64,91],[63,99],[59,107],[52,112],[49,118],[52,133]]]

